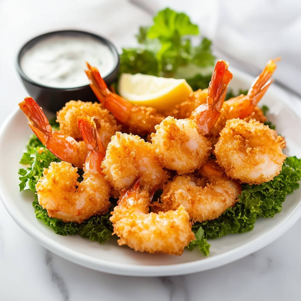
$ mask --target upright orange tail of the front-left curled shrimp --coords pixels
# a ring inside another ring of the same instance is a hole
[[[102,172],[101,163],[106,155],[106,150],[97,132],[95,122],[88,115],[78,116],[77,125],[89,151],[85,164],[90,170]]]

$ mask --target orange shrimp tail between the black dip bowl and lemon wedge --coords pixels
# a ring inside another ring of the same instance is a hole
[[[98,69],[90,66],[87,62],[86,64],[88,70],[85,70],[85,73],[88,76],[90,87],[98,101],[101,102],[117,120],[126,123],[130,117],[130,110],[133,105],[123,97],[112,93],[104,82],[104,79],[101,77]]]

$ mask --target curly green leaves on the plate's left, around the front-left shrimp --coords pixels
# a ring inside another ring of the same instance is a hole
[[[52,120],[53,128],[56,127]],[[43,168],[47,168],[51,162],[59,162],[60,159],[51,154],[46,147],[42,145],[36,135],[32,135],[26,151],[20,160],[21,164],[29,165],[26,169],[19,169],[20,191],[31,190],[36,193],[36,182],[41,177]],[[90,240],[96,240],[103,244],[109,240],[113,233],[112,223],[110,222],[110,212],[113,210],[116,200],[110,199],[112,206],[108,213],[102,216],[91,216],[81,224],[74,222],[62,222],[60,219],[48,217],[47,210],[43,209],[38,202],[38,197],[35,195],[33,207],[35,209],[36,218],[50,227],[55,233],[60,235],[75,235],[79,234],[87,237]]]

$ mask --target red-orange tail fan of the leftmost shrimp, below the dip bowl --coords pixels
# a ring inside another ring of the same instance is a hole
[[[32,97],[25,97],[19,107],[27,117],[29,127],[44,145],[47,144],[52,128],[41,107]]]

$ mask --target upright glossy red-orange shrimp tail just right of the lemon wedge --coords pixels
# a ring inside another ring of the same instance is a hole
[[[233,77],[228,66],[226,61],[216,62],[209,83],[207,103],[197,107],[189,117],[196,121],[201,135],[208,134],[219,118],[229,82]]]

